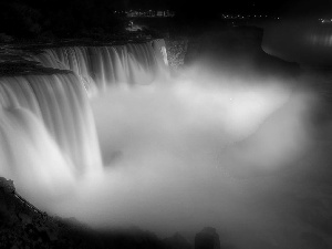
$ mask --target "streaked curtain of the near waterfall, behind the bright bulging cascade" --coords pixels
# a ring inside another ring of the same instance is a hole
[[[101,166],[90,104],[75,75],[1,77],[0,94],[2,110],[24,108],[34,115],[77,172]]]

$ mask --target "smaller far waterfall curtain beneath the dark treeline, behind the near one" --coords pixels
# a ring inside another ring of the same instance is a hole
[[[71,70],[89,94],[113,85],[151,84],[164,70],[164,40],[114,46],[62,46],[32,56],[45,68]]]

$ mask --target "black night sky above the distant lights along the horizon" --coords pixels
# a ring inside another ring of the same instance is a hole
[[[4,0],[4,2],[13,2]],[[209,14],[224,11],[232,12],[267,12],[267,13],[332,13],[331,0],[270,0],[270,1],[245,1],[245,0],[18,0],[28,4],[52,6],[60,4],[65,8],[68,3],[77,6],[101,4],[118,9],[172,9],[186,14]]]

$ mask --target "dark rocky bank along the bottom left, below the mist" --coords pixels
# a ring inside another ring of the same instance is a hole
[[[190,249],[180,235],[162,240],[138,228],[93,230],[74,218],[51,217],[39,210],[0,177],[0,249],[93,248],[93,249]]]

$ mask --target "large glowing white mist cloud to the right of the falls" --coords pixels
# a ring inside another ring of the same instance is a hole
[[[311,98],[289,85],[184,73],[111,89],[92,100],[104,173],[41,205],[94,227],[193,238],[214,226],[239,247],[288,245],[281,230],[293,236],[301,221],[287,218],[298,188],[284,172],[298,170],[312,146]]]

